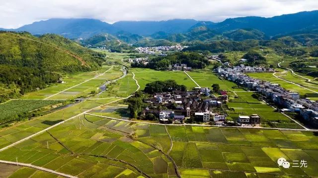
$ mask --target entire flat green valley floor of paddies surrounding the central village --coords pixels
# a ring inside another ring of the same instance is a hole
[[[114,60],[122,62],[122,58]],[[271,77],[269,79],[279,81]],[[258,114],[266,122],[279,120],[284,124],[277,124],[276,128],[231,128],[130,120],[127,106],[121,101],[135,91],[143,90],[151,81],[168,79],[189,89],[218,83],[230,96],[228,106],[233,110],[228,111],[228,119],[236,119],[240,114]],[[222,80],[208,70],[185,73],[129,68],[125,75],[121,66],[105,65],[99,71],[69,75],[64,80],[65,84],[10,102],[37,101],[34,99],[59,102],[59,99],[87,95],[106,81],[111,82],[108,90],[82,102],[0,129],[2,163],[17,161],[34,166],[20,164],[13,168],[9,164],[0,164],[0,170],[5,172],[1,174],[5,177],[61,177],[48,170],[79,178],[318,176],[318,136],[314,132],[317,130],[303,129],[264,102],[254,99],[251,92],[234,89],[235,83]],[[12,107],[10,102],[8,107]],[[0,107],[2,105],[6,106],[1,104]],[[285,169],[277,165],[277,159],[281,157],[291,163],[305,160],[308,167]]]

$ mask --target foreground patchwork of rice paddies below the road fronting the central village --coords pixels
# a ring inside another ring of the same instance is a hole
[[[79,178],[176,178],[178,173],[182,178],[309,178],[318,176],[318,137],[310,131],[155,125],[85,115],[0,154],[0,160],[16,157]],[[279,167],[281,157],[306,160],[308,167]],[[28,168],[10,173],[12,178],[46,174]]]

